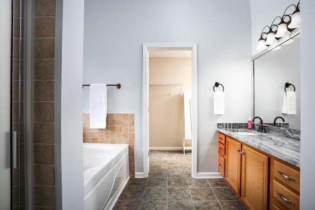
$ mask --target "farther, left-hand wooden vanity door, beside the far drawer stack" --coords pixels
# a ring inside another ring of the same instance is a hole
[[[241,143],[226,137],[225,180],[240,196],[241,192]]]

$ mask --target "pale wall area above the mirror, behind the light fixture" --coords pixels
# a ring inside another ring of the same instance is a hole
[[[251,0],[252,13],[252,56],[259,53],[256,50],[260,34],[265,26],[271,26],[272,21],[277,16],[283,16],[284,10],[290,4],[296,5],[299,0]],[[294,6],[290,6],[285,14],[292,14],[295,10]],[[287,19],[285,19],[287,20]],[[280,18],[277,18],[274,24],[279,24]],[[275,28],[277,29],[277,27]],[[275,30],[274,29],[274,30]],[[267,28],[264,32],[268,32]],[[266,38],[266,36],[264,36]]]

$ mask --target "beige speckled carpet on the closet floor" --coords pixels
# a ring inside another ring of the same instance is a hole
[[[182,150],[150,150],[149,175],[191,175],[191,154]]]

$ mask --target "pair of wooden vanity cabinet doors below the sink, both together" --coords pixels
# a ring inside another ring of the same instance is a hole
[[[248,209],[268,209],[268,156],[228,136],[225,138],[223,179]]]

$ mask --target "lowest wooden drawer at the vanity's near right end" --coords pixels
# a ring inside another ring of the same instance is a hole
[[[300,197],[276,180],[274,180],[273,196],[290,210],[300,209]]]

